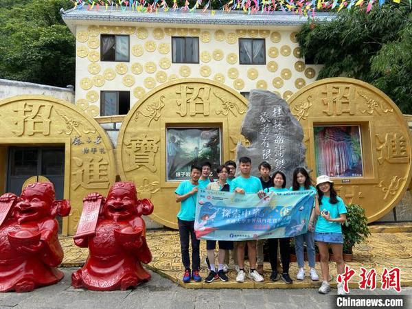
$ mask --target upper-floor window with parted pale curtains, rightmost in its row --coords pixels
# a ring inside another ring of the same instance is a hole
[[[266,65],[264,38],[239,38],[240,65]]]

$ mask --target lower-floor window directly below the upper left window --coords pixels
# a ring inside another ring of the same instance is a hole
[[[102,91],[100,115],[126,115],[130,109],[129,91]]]

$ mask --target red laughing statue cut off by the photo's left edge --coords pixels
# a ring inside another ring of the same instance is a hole
[[[21,196],[0,196],[0,291],[29,292],[59,282],[63,260],[57,215],[70,203],[56,201],[52,183],[32,183]]]

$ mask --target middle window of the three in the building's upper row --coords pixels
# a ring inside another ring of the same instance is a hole
[[[172,37],[173,63],[199,63],[199,38]]]

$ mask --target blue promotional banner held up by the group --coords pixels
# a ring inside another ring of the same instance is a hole
[[[308,231],[315,192],[238,194],[200,189],[194,229],[204,240],[285,238]]]

